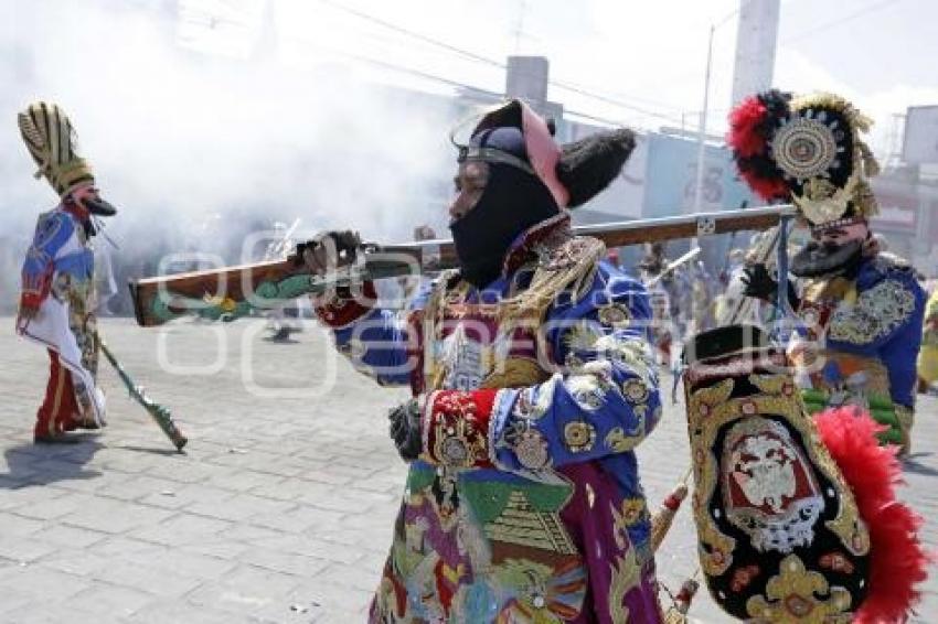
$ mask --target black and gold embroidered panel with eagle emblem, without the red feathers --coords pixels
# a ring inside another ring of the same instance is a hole
[[[791,377],[766,362],[731,354],[685,375],[701,567],[735,617],[849,622],[868,532]]]

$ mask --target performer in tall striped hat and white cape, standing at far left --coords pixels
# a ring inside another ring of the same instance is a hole
[[[44,345],[51,362],[34,440],[74,442],[65,432],[105,423],[104,394],[96,385],[94,252],[96,216],[115,208],[100,198],[87,162],[76,153],[72,122],[55,104],[36,103],[19,115],[30,154],[61,197],[36,223],[22,269],[17,318],[20,335]]]

